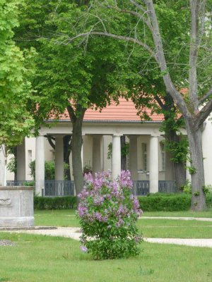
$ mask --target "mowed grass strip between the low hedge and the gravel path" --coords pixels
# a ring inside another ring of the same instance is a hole
[[[148,216],[148,214],[144,213],[143,215]],[[154,216],[153,213],[151,214]],[[160,213],[160,216],[163,216],[163,214]],[[76,211],[73,209],[35,211],[35,224],[38,226],[80,227],[78,219],[76,219]],[[146,219],[141,217],[138,221],[138,227],[143,236],[149,238],[212,238],[212,221]]]

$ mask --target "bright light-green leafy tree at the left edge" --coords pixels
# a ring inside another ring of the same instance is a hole
[[[0,145],[14,146],[30,134],[34,122],[27,110],[32,52],[20,51],[13,41],[18,26],[18,0],[0,1]]]

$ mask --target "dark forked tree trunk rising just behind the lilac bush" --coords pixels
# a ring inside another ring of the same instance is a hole
[[[78,195],[81,190],[83,190],[83,165],[81,158],[81,150],[83,145],[82,136],[82,126],[83,117],[86,112],[82,106],[78,105],[76,113],[73,111],[71,106],[67,107],[69,111],[69,116],[71,118],[71,123],[73,126],[72,138],[71,138],[71,152],[72,152],[72,165],[73,165],[73,178],[76,195]],[[78,197],[76,197],[76,202],[78,205]]]

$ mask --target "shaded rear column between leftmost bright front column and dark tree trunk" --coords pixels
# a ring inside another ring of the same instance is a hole
[[[64,180],[64,139],[55,136],[55,180]]]

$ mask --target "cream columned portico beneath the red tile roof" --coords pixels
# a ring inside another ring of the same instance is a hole
[[[51,121],[49,121],[51,123]],[[160,123],[157,122],[93,122],[83,123],[83,166],[90,166],[93,173],[112,171],[112,178],[121,172],[121,136],[129,142],[127,168],[133,180],[149,180],[150,192],[158,192],[158,180],[163,178],[159,172]],[[64,180],[63,137],[71,134],[69,121],[59,121],[54,127],[42,127],[36,137],[36,193],[41,195],[45,183],[45,135],[55,137],[55,180]],[[108,145],[112,143],[112,159],[107,159]],[[146,152],[142,152],[142,146]],[[165,179],[161,179],[165,180]]]

